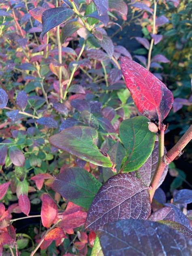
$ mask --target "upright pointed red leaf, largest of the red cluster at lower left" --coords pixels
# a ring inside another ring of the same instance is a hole
[[[44,227],[49,228],[53,224],[58,214],[58,207],[47,194],[43,195],[43,203],[41,207],[41,220]]]

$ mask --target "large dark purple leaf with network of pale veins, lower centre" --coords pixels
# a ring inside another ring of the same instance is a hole
[[[146,220],[151,213],[148,189],[128,173],[111,177],[96,194],[87,213],[85,228],[98,230],[117,220]]]

